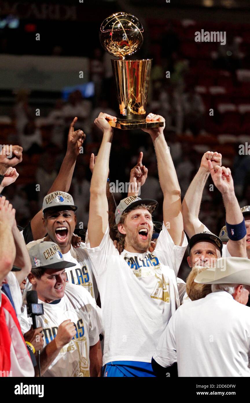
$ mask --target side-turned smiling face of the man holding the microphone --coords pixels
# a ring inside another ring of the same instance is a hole
[[[36,278],[32,272],[29,274],[32,289],[37,291],[41,301],[47,303],[64,296],[66,278],[65,269],[46,269],[41,278]]]

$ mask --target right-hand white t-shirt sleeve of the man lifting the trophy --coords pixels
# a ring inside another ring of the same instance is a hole
[[[157,253],[157,256],[159,256],[161,262],[172,268],[177,276],[187,245],[188,241],[185,234],[182,245],[174,245],[174,241],[163,223],[162,231],[157,239],[154,251]]]

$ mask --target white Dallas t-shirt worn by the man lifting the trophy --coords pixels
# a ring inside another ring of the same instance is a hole
[[[153,253],[123,250],[119,255],[108,226],[100,245],[88,249],[102,304],[103,365],[151,362],[160,335],[180,305],[176,276],[186,246],[186,236],[182,246],[176,246],[163,225]]]

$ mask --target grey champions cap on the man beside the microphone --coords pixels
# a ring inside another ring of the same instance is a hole
[[[75,263],[66,262],[61,253],[61,249],[54,242],[36,243],[29,249],[29,257],[31,259],[32,269],[65,269],[67,267],[76,266]]]

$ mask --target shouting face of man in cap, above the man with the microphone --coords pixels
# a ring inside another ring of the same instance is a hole
[[[63,253],[70,250],[72,234],[76,228],[76,215],[72,210],[51,209],[44,213],[43,225],[51,239]]]

